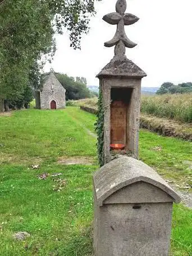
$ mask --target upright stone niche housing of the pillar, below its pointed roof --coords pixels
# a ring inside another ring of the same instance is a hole
[[[104,109],[104,163],[115,155],[138,158],[141,79],[100,77]]]

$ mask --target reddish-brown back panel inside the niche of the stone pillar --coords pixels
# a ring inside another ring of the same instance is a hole
[[[120,100],[111,103],[111,144],[126,145],[127,104]]]

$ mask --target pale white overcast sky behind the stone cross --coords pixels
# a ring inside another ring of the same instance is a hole
[[[113,58],[114,47],[104,47],[112,39],[116,25],[102,17],[115,12],[117,0],[95,3],[97,15],[90,21],[90,32],[83,35],[81,50],[73,50],[67,32],[56,35],[57,51],[45,71],[71,77],[85,77],[88,86],[99,86],[95,76]],[[127,37],[138,45],[126,48],[126,56],[147,73],[143,87],[160,87],[163,82],[192,82],[192,1],[191,0],[127,0],[126,12],[140,20],[125,26]]]

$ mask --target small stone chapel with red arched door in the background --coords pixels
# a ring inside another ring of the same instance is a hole
[[[63,109],[66,107],[65,88],[54,76],[54,71],[43,78],[42,89],[36,91],[36,109]]]

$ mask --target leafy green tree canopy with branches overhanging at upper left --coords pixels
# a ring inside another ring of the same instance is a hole
[[[0,98],[20,100],[26,86],[39,79],[42,55],[51,61],[56,51],[55,33],[66,28],[71,47],[80,48],[94,12],[94,0],[1,1]]]

